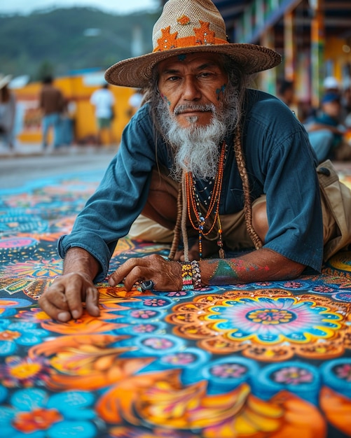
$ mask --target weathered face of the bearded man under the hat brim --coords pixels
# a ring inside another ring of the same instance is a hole
[[[174,56],[158,64],[158,88],[180,127],[205,126],[221,108],[228,77],[214,53]]]

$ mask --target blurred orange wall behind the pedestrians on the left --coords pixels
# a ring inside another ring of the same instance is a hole
[[[74,101],[76,104],[76,141],[83,142],[88,137],[95,137],[97,127],[95,123],[94,107],[90,104],[92,92],[99,88],[99,85],[86,85],[83,76],[67,76],[57,78],[55,86],[62,90],[64,97]],[[23,129],[18,134],[18,140],[22,142],[41,142],[41,112],[39,110],[39,92],[41,83],[29,83],[25,87],[13,90],[18,104],[24,110]],[[109,88],[116,100],[114,112],[116,117],[113,120],[113,136],[116,142],[121,140],[123,128],[128,123],[128,99],[134,92],[129,87]]]

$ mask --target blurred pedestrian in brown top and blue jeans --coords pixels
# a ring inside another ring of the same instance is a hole
[[[43,78],[43,86],[39,95],[39,107],[42,111],[43,150],[48,148],[48,136],[53,129],[53,148],[60,148],[62,139],[62,112],[64,111],[64,96],[53,85],[53,77]]]

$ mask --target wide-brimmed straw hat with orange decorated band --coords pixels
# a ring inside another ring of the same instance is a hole
[[[153,27],[153,52],[117,62],[106,70],[105,79],[112,85],[143,88],[158,62],[191,52],[223,53],[246,73],[271,69],[282,60],[261,45],[228,43],[223,17],[212,1],[168,0]]]

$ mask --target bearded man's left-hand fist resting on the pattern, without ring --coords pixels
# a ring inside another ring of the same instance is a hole
[[[78,319],[83,313],[83,304],[92,316],[99,316],[99,292],[88,276],[71,272],[56,278],[39,299],[39,306],[48,315],[62,323]]]

